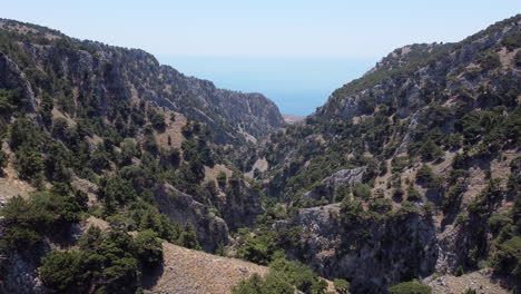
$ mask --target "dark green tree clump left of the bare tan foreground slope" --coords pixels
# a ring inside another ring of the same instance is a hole
[[[132,238],[124,226],[90,227],[78,245],[42,258],[40,275],[51,293],[136,293],[140,268],[163,261],[161,243],[151,231]]]

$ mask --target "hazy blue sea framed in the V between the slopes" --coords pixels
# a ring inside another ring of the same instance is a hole
[[[218,88],[260,92],[282,114],[306,116],[344,84],[361,77],[377,61],[347,58],[232,58],[163,56],[159,62],[214,81]]]

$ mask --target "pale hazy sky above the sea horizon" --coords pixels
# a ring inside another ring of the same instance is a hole
[[[521,12],[519,0],[0,0],[0,16],[156,55],[381,57],[456,41]]]

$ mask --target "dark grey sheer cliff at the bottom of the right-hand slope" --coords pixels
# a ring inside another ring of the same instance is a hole
[[[301,226],[305,233],[301,244],[288,248],[289,255],[326,278],[352,281],[351,293],[380,293],[400,281],[434,273],[439,245],[429,216],[405,214],[346,227],[338,213],[337,204],[298,210],[285,225]]]

